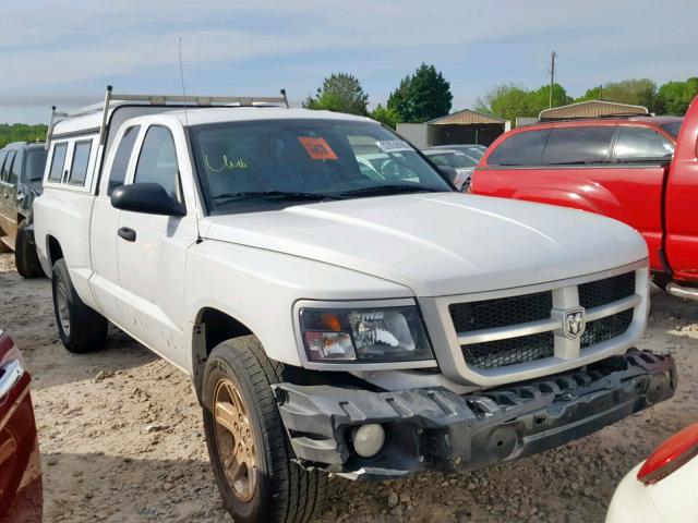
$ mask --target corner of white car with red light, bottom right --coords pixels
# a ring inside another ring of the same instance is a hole
[[[698,423],[669,438],[623,478],[606,523],[695,523],[696,487]]]

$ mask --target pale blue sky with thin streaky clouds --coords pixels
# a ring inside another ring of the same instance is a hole
[[[571,96],[629,77],[698,76],[696,0],[3,0],[0,122],[47,122],[115,93],[276,95],[300,105],[333,72],[370,105],[433,63],[454,110],[503,82]]]

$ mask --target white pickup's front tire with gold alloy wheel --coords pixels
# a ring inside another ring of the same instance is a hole
[[[204,370],[208,454],[224,506],[236,522],[306,523],[320,514],[327,477],[293,458],[272,384],[284,365],[254,336],[217,345]]]

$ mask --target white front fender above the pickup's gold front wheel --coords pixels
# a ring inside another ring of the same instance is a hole
[[[292,315],[298,300],[414,296],[410,289],[373,276],[215,240],[191,247],[186,273],[192,328],[203,308],[215,308],[250,329],[268,357],[296,366],[301,365]]]

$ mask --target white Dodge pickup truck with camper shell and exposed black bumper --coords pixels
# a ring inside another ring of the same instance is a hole
[[[109,89],[52,122],[34,206],[65,348],[111,321],[191,375],[236,521],[310,521],[325,473],[473,470],[674,393],[671,356],[633,349],[635,231],[459,194],[381,124],[282,100]]]

